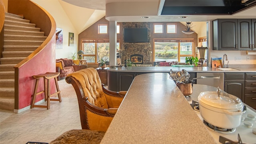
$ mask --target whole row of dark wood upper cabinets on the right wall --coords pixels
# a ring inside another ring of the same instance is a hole
[[[213,21],[213,50],[253,50],[255,19],[217,19]]]

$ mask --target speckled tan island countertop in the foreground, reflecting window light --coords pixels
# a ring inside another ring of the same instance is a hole
[[[142,88],[143,87],[143,88]],[[193,94],[212,90],[193,88]],[[215,144],[168,73],[134,78],[101,144]]]

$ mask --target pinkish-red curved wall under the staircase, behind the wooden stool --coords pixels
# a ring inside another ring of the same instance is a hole
[[[56,72],[55,59],[56,37],[52,37],[46,47],[34,58],[19,68],[19,109],[30,106],[36,79],[32,76],[46,72]],[[50,80],[51,94],[56,92],[54,79]],[[44,79],[41,78],[37,92],[44,90]],[[44,98],[44,93],[36,96],[36,102]]]

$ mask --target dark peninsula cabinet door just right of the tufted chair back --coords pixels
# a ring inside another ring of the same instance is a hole
[[[136,72],[118,72],[118,91],[128,90]]]

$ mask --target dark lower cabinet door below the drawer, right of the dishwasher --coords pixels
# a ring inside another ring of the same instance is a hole
[[[224,80],[224,91],[244,102],[244,80]]]

